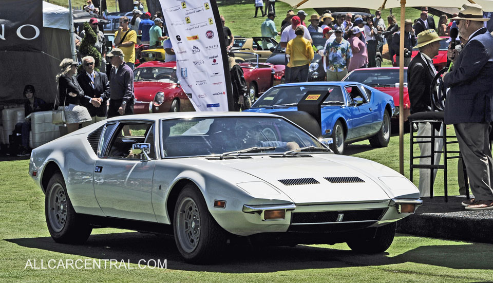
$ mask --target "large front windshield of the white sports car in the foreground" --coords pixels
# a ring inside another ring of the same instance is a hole
[[[162,156],[189,157],[241,154],[284,154],[313,146],[326,147],[300,128],[277,117],[206,117],[162,120]],[[256,147],[255,150],[252,148]],[[249,150],[244,150],[249,149]]]

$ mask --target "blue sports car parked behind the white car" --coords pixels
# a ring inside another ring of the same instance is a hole
[[[270,88],[247,111],[274,113],[297,111],[307,91],[330,92],[321,106],[321,136],[332,138],[331,148],[343,154],[346,144],[370,140],[373,147],[387,146],[390,117],[395,106],[391,96],[356,82],[308,82]],[[288,117],[289,118],[289,117]],[[304,127],[304,121],[296,121]],[[308,123],[308,122],[307,122]]]

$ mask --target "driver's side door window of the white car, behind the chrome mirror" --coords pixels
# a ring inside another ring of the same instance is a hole
[[[143,155],[135,156],[131,154],[130,149],[134,143],[150,143],[149,157],[156,157],[153,124],[120,123],[106,150],[105,157],[129,159],[144,158]]]

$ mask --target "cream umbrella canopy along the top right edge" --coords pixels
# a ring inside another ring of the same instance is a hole
[[[377,10],[382,7],[384,0],[353,0],[353,1],[327,1],[327,0],[279,0],[281,2],[288,3],[295,9],[307,9],[307,8],[368,8]],[[493,0],[473,0],[476,4],[483,7],[485,12],[493,12]],[[468,3],[467,0],[446,0],[446,1],[429,1],[429,0],[408,0],[406,1],[408,7],[449,7],[460,8],[463,4]],[[298,6],[299,5],[299,6]],[[387,0],[385,8],[399,8],[401,7],[400,0]]]

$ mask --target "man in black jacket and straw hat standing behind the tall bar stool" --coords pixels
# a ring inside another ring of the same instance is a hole
[[[418,34],[418,45],[420,52],[414,56],[407,68],[407,88],[411,102],[411,114],[417,112],[431,111],[430,86],[437,70],[433,66],[433,57],[438,55],[440,41],[445,40],[438,36],[434,29],[428,29]],[[432,130],[434,129],[434,130]],[[441,123],[418,123],[418,136],[435,136],[441,134]],[[420,139],[425,140],[425,139]],[[421,156],[431,154],[430,143],[420,143]],[[443,140],[435,139],[434,150],[441,151]],[[435,154],[433,164],[440,163],[441,154]],[[421,158],[420,164],[430,164],[430,158]],[[430,169],[420,169],[420,184],[418,186],[422,197],[430,196]],[[437,169],[433,170],[433,181],[437,176]]]

